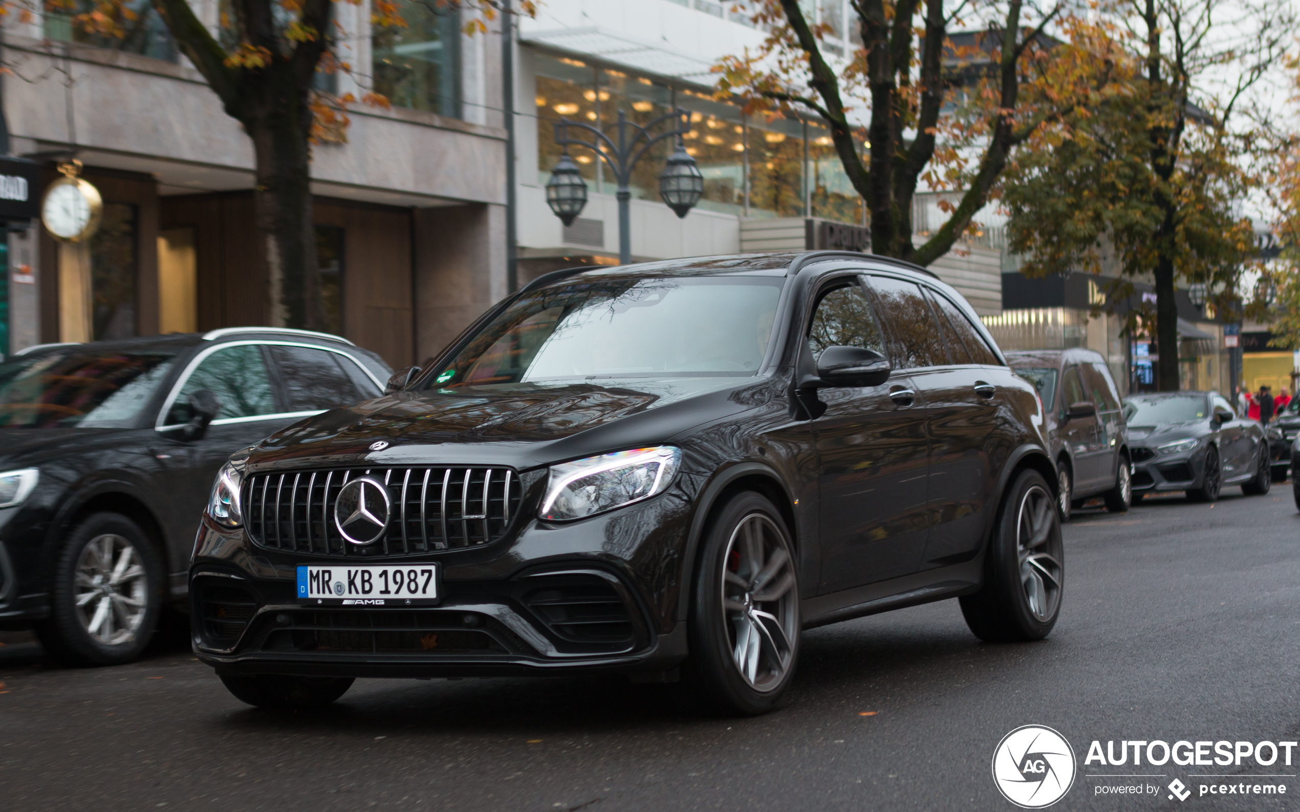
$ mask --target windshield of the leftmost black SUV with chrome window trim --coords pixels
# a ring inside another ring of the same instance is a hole
[[[131,426],[173,357],[83,349],[13,357],[0,364],[0,426]]]

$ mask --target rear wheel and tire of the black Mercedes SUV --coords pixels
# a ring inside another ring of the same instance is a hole
[[[1065,556],[1053,507],[1043,474],[1022,470],[998,508],[984,587],[959,599],[975,637],[991,643],[1040,641],[1056,626]]]

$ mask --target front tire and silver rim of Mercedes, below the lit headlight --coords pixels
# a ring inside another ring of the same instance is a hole
[[[800,587],[785,522],[762,495],[736,494],[701,556],[689,670],[712,708],[766,713],[789,687],[800,653]]]

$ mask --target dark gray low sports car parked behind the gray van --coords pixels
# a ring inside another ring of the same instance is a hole
[[[1186,491],[1214,501],[1240,485],[1268,494],[1273,485],[1269,442],[1253,420],[1238,417],[1218,392],[1158,392],[1124,400],[1134,500],[1147,494]]]

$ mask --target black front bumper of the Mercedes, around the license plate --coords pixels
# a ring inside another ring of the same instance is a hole
[[[529,520],[498,542],[393,559],[442,564],[438,605],[394,608],[299,604],[296,565],[330,560],[204,521],[191,642],[224,674],[662,673],[686,656],[676,609],[688,521],[689,501],[670,490],[604,516]]]

